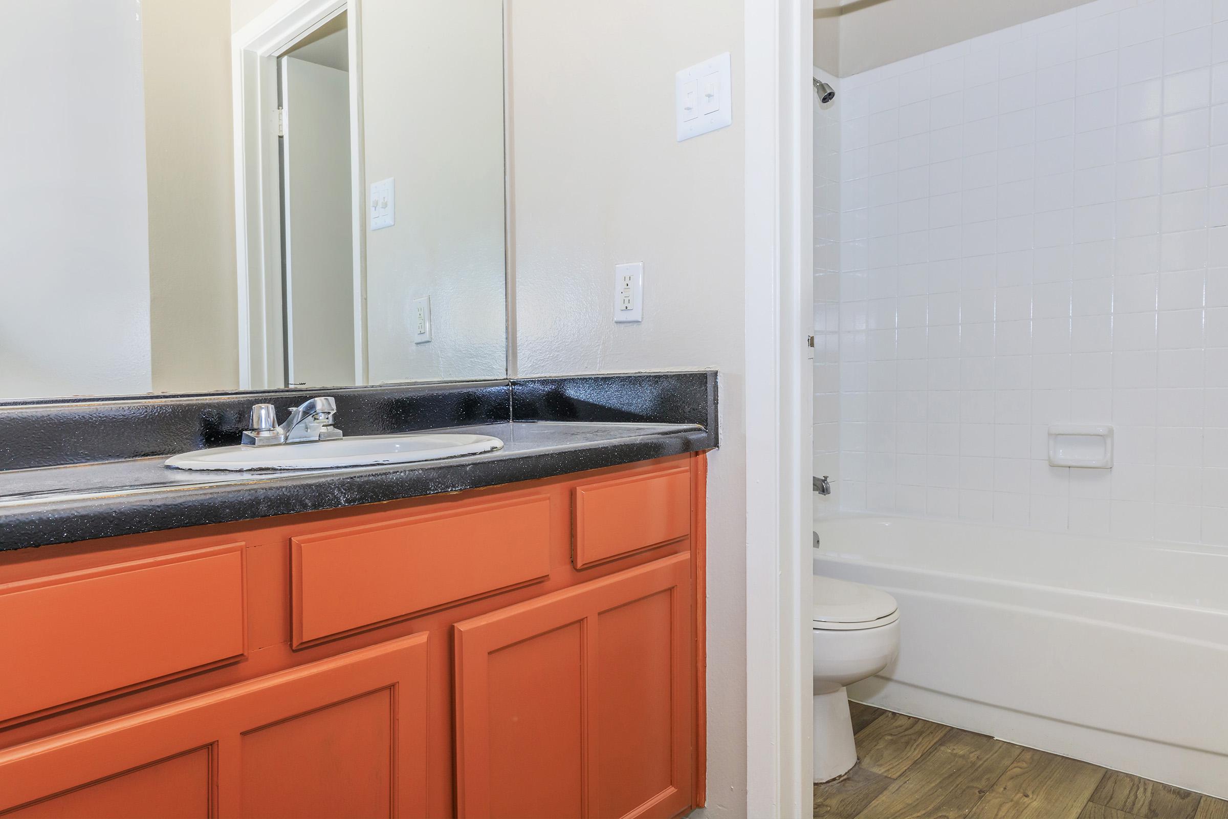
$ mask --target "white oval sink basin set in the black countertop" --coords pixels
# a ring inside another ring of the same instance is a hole
[[[167,458],[172,469],[329,469],[335,467],[373,467],[414,463],[438,458],[475,456],[502,449],[503,442],[489,435],[430,432],[408,435],[368,435],[308,443],[282,443],[266,447],[217,447],[198,449]]]

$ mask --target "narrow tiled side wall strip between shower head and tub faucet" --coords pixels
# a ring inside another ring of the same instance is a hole
[[[814,76],[839,91],[836,77]],[[814,452],[815,475],[840,474],[840,118],[814,96]],[[817,499],[833,508],[837,497]]]

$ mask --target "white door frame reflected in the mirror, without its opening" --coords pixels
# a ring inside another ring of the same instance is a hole
[[[350,61],[354,375],[367,382],[361,0],[276,0],[231,38],[239,389],[285,387],[278,58],[345,11]]]

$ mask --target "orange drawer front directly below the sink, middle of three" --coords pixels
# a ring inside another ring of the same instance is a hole
[[[293,647],[550,575],[550,499],[467,506],[295,537]]]

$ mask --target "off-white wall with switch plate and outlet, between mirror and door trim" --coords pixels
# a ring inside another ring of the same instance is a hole
[[[519,373],[721,373],[709,480],[709,814],[745,815],[743,6],[508,9]],[[674,74],[722,52],[733,58],[734,124],[675,141]],[[614,265],[640,260],[643,323],[615,325]]]

